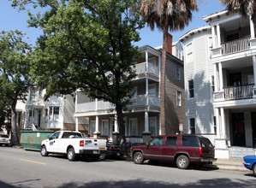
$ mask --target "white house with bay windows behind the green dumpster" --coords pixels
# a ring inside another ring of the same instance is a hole
[[[74,104],[75,97],[53,96],[44,101],[45,89],[30,89],[25,103],[23,129],[28,130],[75,130]],[[88,122],[80,119],[80,132],[87,133]]]

